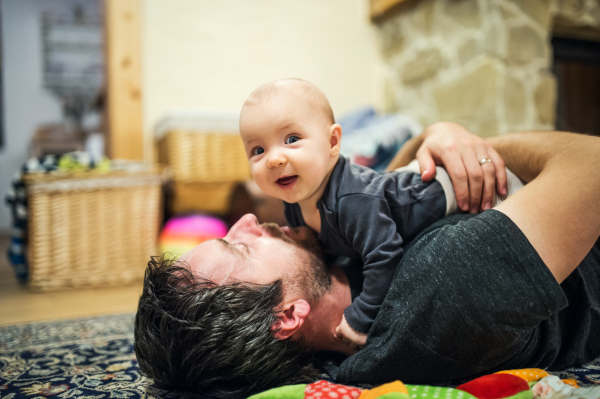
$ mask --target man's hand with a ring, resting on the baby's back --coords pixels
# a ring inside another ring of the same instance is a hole
[[[504,161],[487,141],[462,125],[438,122],[423,131],[417,160],[423,181],[435,177],[435,166],[443,165],[454,185],[458,207],[471,213],[490,209],[494,190],[506,194]],[[491,162],[481,164],[480,160]]]

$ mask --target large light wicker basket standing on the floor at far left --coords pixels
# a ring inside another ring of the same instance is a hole
[[[32,290],[141,281],[162,216],[158,170],[30,175],[25,184]]]

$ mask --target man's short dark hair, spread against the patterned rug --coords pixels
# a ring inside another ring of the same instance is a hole
[[[135,317],[140,371],[163,389],[246,397],[281,384],[311,351],[274,338],[281,280],[217,285],[184,262],[152,257]]]

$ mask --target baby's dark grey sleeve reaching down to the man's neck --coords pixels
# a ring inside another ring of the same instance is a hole
[[[383,198],[344,196],[338,202],[337,214],[340,232],[360,253],[364,264],[363,291],[344,316],[355,331],[368,333],[402,259],[402,237]]]

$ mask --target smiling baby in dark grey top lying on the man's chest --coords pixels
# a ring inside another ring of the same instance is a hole
[[[311,227],[328,253],[362,260],[363,290],[335,334],[364,346],[403,245],[456,210],[450,178],[442,168],[425,183],[418,169],[381,174],[350,164],[340,156],[342,128],[327,97],[299,79],[254,90],[240,134],[255,182],[285,201],[289,224]]]

